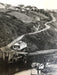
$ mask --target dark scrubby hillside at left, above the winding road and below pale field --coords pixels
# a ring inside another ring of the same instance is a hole
[[[21,20],[5,13],[0,13],[0,47],[31,30]]]

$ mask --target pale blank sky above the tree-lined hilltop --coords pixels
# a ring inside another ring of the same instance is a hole
[[[57,9],[57,0],[0,0],[0,2],[14,6],[24,4],[44,9]]]

